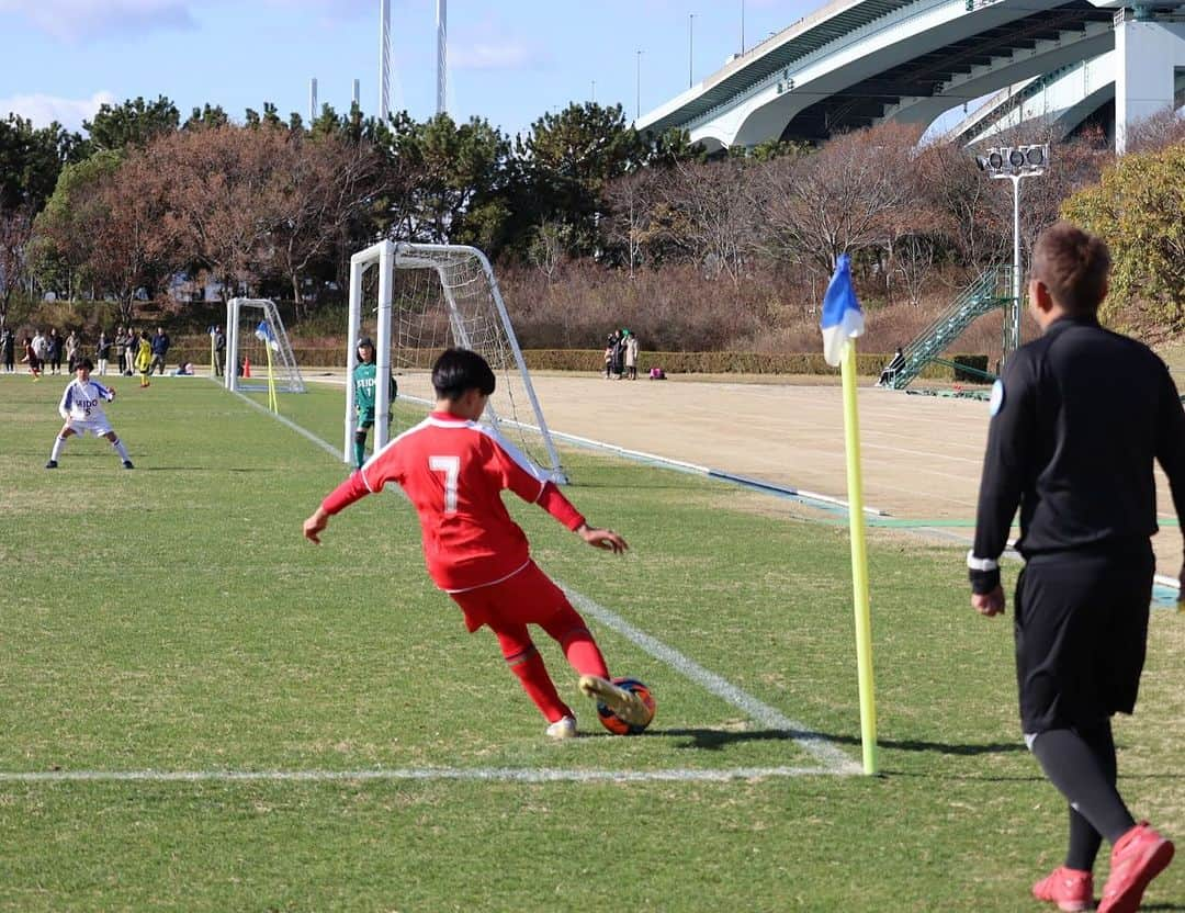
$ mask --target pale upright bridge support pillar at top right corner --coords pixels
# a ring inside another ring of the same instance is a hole
[[[1120,9],[1115,58],[1115,152],[1122,155],[1133,124],[1173,108],[1176,71],[1185,69],[1185,23]]]

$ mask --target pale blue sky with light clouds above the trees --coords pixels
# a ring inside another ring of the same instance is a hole
[[[448,110],[513,136],[570,102],[645,114],[822,0],[449,0]],[[0,0],[0,119],[82,129],[104,102],[378,109],[379,0]],[[391,107],[436,109],[436,0],[391,0]],[[639,51],[642,51],[639,56]]]

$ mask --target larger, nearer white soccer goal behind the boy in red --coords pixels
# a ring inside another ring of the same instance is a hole
[[[377,267],[377,280],[366,273]],[[497,389],[485,419],[550,472],[566,481],[559,454],[547,432],[486,255],[455,244],[396,244],[382,241],[350,261],[350,347],[347,377],[358,363],[358,340],[370,334],[374,319],[376,370],[398,375],[399,398],[434,402],[431,365],[450,346],[480,352],[494,370]],[[389,410],[387,385],[376,384],[374,413]],[[353,459],[354,388],[346,384],[346,434],[341,459]],[[390,436],[386,423],[374,424],[374,449]]]

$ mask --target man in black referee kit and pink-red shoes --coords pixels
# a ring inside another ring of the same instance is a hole
[[[1164,363],[1098,325],[1109,269],[1103,241],[1069,223],[1048,229],[1033,248],[1029,307],[1043,336],[1008,359],[992,390],[967,564],[972,606],[989,617],[1004,612],[998,561],[1019,506],[1020,720],[1025,742],[1070,803],[1065,864],[1033,895],[1063,911],[1089,909],[1106,837],[1112,864],[1098,911],[1126,913],[1173,857],[1173,844],[1138,824],[1116,790],[1110,717],[1132,713],[1144,669],[1154,460],[1185,518],[1185,411]]]

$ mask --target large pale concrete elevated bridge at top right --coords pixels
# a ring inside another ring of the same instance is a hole
[[[885,120],[928,126],[1007,87],[1109,55],[1116,148],[1173,104],[1185,2],[834,0],[639,119],[710,151],[819,141]],[[1083,104],[1089,104],[1090,98]],[[1097,104],[1106,98],[1097,94]],[[1097,109],[1096,104],[1096,109]]]

